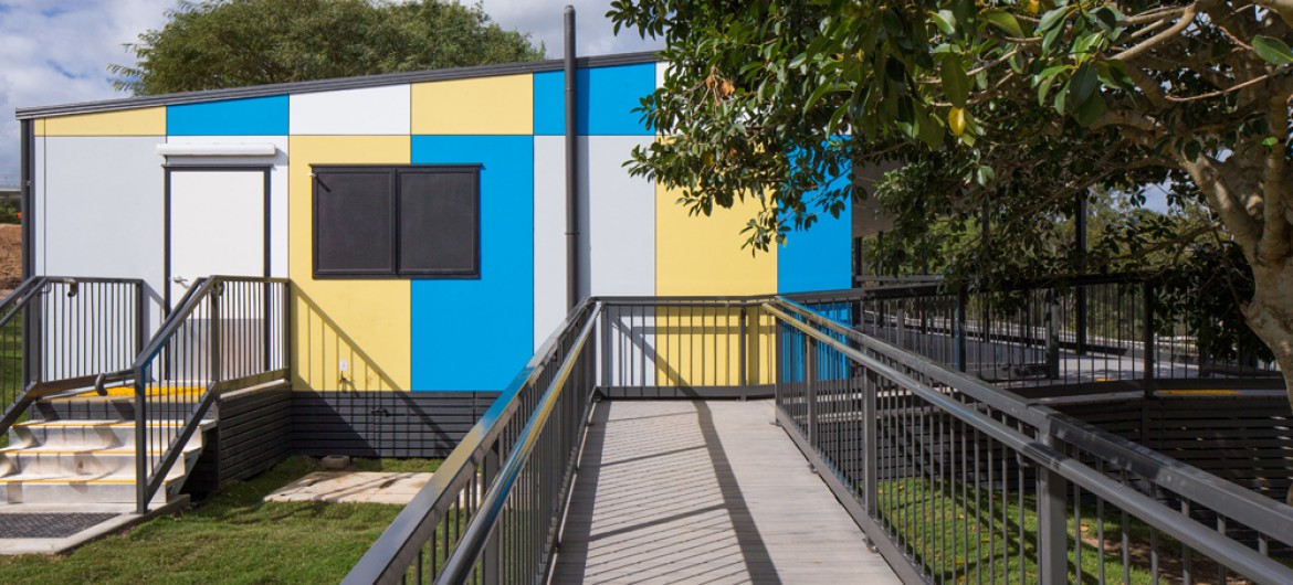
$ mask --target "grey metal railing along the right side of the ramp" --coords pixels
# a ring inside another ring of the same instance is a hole
[[[802,305],[764,310],[780,424],[904,581],[1293,582],[1293,508]]]

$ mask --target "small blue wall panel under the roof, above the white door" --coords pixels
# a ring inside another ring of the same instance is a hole
[[[286,136],[287,96],[168,106],[167,134]]]

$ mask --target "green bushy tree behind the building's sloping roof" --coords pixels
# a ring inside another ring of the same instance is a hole
[[[109,67],[118,89],[160,94],[543,58],[480,5],[445,0],[203,0],[180,3],[162,30]]]

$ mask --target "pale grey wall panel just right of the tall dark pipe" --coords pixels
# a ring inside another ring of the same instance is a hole
[[[656,185],[625,161],[649,136],[579,137],[581,272],[593,296],[656,294]]]

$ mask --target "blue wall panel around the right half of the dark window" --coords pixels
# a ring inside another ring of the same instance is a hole
[[[534,138],[414,136],[412,163],[480,163],[478,279],[412,282],[412,390],[503,390],[534,353]]]

